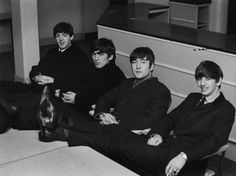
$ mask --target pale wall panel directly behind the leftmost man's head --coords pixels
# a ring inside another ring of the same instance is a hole
[[[82,31],[82,0],[38,0],[39,37],[52,37],[56,23],[66,21]]]

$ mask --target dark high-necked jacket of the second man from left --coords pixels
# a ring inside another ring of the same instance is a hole
[[[74,80],[74,86],[67,87],[68,90],[76,93],[73,107],[87,114],[91,110],[91,105],[96,104],[99,97],[124,79],[126,79],[124,73],[113,62],[103,68],[96,68],[93,63],[89,64]]]

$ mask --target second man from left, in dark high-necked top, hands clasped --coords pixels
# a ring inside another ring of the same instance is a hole
[[[85,114],[88,114],[101,95],[126,79],[115,64],[116,48],[111,40],[95,40],[91,43],[90,52],[92,63],[85,66],[81,74],[70,80],[69,84],[55,91],[56,97],[63,103]]]

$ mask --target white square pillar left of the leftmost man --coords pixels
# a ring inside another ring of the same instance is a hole
[[[37,0],[11,0],[15,80],[28,82],[39,61]]]

